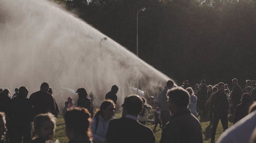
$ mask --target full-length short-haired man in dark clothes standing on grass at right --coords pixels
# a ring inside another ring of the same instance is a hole
[[[211,128],[211,142],[215,142],[215,134],[219,121],[223,127],[223,131],[228,128],[227,113],[229,103],[227,100],[227,94],[224,92],[224,83],[218,84],[218,91],[214,93],[210,100],[209,110],[210,114],[213,113],[213,127]]]

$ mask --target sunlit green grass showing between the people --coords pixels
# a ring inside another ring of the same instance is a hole
[[[61,114],[59,115],[59,117],[61,117]],[[115,114],[116,118],[120,118],[121,117],[121,111],[117,112]],[[154,119],[154,109],[152,109],[150,111],[150,115],[148,116],[148,119],[153,120]],[[201,126],[202,126],[202,130],[203,130],[203,139],[204,139],[204,143],[208,143],[210,142],[210,135],[211,135],[211,125],[210,125],[210,121],[208,118],[201,118],[199,117],[199,121],[201,122]],[[232,126],[232,121],[229,120],[228,122],[228,127]],[[54,134],[54,140],[59,139],[60,143],[66,143],[68,142],[68,138],[65,135],[65,122],[63,120],[63,118],[58,118],[57,119],[57,128],[55,130],[55,134]],[[150,127],[152,130],[154,129],[155,125],[152,125],[151,123],[147,123],[146,124],[148,127]],[[159,128],[159,125],[156,129],[155,132],[155,136],[156,136],[156,143],[158,143],[161,139],[161,128]],[[216,141],[217,139],[220,137],[220,135],[223,133],[223,128],[221,123],[219,122],[218,128],[217,128],[217,132],[216,132]]]

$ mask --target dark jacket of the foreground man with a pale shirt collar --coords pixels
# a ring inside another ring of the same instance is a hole
[[[156,138],[153,131],[130,118],[111,120],[106,143],[154,143]]]

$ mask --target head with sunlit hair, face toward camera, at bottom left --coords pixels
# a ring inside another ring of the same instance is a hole
[[[52,113],[41,113],[34,119],[33,136],[40,137],[45,140],[53,139],[54,130],[56,128],[56,119]]]

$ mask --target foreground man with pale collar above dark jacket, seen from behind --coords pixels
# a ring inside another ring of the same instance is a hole
[[[153,131],[137,121],[143,110],[143,101],[138,95],[129,95],[122,104],[122,118],[113,119],[106,133],[106,143],[154,143]]]

